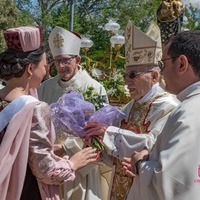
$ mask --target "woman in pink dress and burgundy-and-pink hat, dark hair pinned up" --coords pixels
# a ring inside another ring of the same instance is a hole
[[[30,95],[46,71],[41,29],[11,28],[0,53],[0,194],[2,200],[61,200],[60,185],[96,161],[95,149],[72,157],[53,153],[55,139],[49,106]]]

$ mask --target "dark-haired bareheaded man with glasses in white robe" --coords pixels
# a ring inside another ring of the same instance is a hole
[[[138,173],[127,199],[198,200],[200,157],[192,155],[200,152],[200,31],[171,37],[159,66],[166,90],[181,103],[170,114],[153,149],[132,155],[131,164]]]

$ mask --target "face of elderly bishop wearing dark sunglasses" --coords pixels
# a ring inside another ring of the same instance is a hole
[[[124,78],[131,98],[139,100],[158,82],[159,72],[155,69],[150,70],[149,67],[127,67]]]

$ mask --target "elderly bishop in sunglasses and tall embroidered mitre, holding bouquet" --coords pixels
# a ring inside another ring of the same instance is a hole
[[[124,200],[132,185],[122,166],[122,158],[135,151],[151,149],[171,111],[179,104],[175,96],[160,85],[158,60],[161,58],[159,27],[152,23],[145,34],[131,22],[126,28],[126,85],[132,100],[122,111],[125,119],[116,126],[97,122],[86,125],[88,136],[103,135],[107,153],[114,157],[114,174],[108,199]],[[145,192],[145,190],[144,190]]]

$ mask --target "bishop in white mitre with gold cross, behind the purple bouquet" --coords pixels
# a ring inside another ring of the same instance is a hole
[[[93,79],[80,65],[81,38],[77,33],[55,27],[49,35],[49,47],[58,74],[42,83],[38,89],[40,100],[51,104],[68,90],[83,93],[89,87],[93,87],[94,92],[98,93],[105,103],[108,103],[107,93],[103,85]],[[84,145],[79,137],[57,137],[57,141],[59,142],[55,144],[55,152],[60,156],[63,154],[73,155],[80,151]],[[100,169],[104,170],[104,167],[107,168],[107,166],[91,164],[78,170],[76,179],[65,184],[65,199],[103,199],[103,195],[108,190],[107,184],[101,185],[102,181],[106,183],[100,171]],[[101,189],[101,187],[104,188]]]

